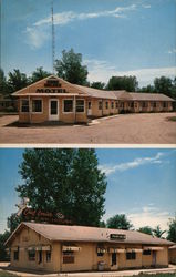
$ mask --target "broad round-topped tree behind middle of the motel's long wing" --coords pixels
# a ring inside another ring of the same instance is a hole
[[[137,91],[138,82],[136,76],[112,76],[106,85],[107,90]]]

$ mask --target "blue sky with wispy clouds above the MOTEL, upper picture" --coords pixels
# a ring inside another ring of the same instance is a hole
[[[2,69],[52,70],[51,0],[1,0]],[[176,0],[53,0],[55,58],[83,54],[90,81],[176,74]]]

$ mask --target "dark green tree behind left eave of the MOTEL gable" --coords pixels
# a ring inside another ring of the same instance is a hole
[[[21,73],[18,69],[14,69],[13,72],[9,72],[8,84],[10,88],[10,93],[12,93],[25,88],[29,84],[29,80],[24,73]]]

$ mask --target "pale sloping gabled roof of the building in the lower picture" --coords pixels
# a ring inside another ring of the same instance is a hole
[[[97,243],[124,243],[124,244],[145,244],[145,245],[167,245],[170,246],[174,243],[166,239],[153,237],[136,230],[122,230],[122,229],[108,229],[97,227],[85,226],[68,226],[68,225],[53,225],[53,224],[40,224],[40,223],[21,223],[19,227],[12,233],[6,244],[10,244],[17,234],[22,228],[29,227],[38,234],[48,238],[49,240],[60,242],[97,242]],[[125,240],[111,240],[110,235],[125,235]]]

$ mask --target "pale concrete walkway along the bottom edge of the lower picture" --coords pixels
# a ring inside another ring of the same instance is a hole
[[[3,263],[0,263],[0,271],[6,270],[11,274],[15,274],[17,276],[21,277],[118,277],[118,276],[133,276],[138,275],[141,273],[145,274],[166,274],[166,273],[175,273],[176,275],[176,265],[169,265],[168,268],[157,268],[157,269],[133,269],[133,270],[122,270],[122,271],[100,271],[100,273],[68,273],[68,274],[43,274],[43,273],[20,273],[10,270],[10,268],[7,267],[7,265]]]

